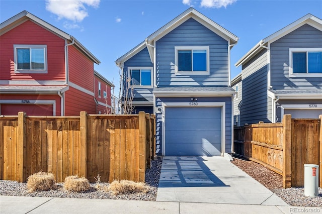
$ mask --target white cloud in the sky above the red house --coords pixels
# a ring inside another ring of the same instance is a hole
[[[86,7],[98,8],[100,0],[46,0],[46,10],[58,19],[82,22],[88,17]]]

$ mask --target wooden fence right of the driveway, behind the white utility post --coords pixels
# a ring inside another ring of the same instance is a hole
[[[322,187],[322,115],[319,119],[291,119],[282,123],[234,128],[234,152],[283,176],[283,187],[304,185],[304,164],[319,165]]]

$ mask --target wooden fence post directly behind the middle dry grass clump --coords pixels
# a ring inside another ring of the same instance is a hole
[[[81,132],[79,176],[87,176],[87,112],[80,113],[79,131]]]

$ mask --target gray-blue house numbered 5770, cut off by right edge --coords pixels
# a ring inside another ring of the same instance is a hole
[[[240,125],[322,114],[322,20],[307,14],[257,43],[235,64],[242,66]]]

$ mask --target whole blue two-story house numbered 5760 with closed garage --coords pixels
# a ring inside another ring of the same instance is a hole
[[[236,43],[235,35],[189,8],[116,60],[134,84],[135,111],[156,114],[157,154],[231,153],[229,62]]]

